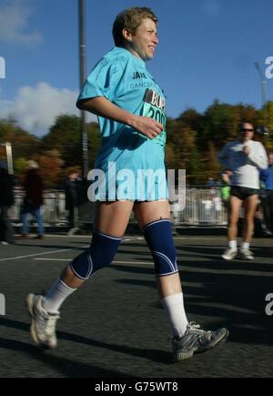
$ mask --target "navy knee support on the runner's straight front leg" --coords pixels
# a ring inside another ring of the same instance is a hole
[[[173,239],[172,221],[161,219],[147,224],[144,236],[155,261],[157,277],[177,273],[177,249]]]

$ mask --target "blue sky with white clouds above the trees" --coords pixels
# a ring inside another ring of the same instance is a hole
[[[58,115],[78,115],[77,3],[0,0],[0,118],[13,117],[37,136]],[[167,95],[168,117],[187,108],[203,113],[215,99],[261,107],[255,62],[273,100],[273,78],[266,77],[272,0],[86,0],[88,73],[114,46],[113,22],[129,6],[150,7],[158,16],[159,46],[147,69]]]

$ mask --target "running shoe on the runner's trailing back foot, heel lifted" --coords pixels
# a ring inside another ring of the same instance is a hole
[[[32,318],[30,328],[32,339],[38,346],[54,350],[57,347],[56,321],[60,319],[58,313],[51,314],[43,308],[43,296],[29,294],[26,299],[28,312]]]

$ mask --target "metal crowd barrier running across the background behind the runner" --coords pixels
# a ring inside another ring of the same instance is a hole
[[[66,226],[66,194],[64,191],[45,191],[45,205],[42,208],[45,225]],[[15,191],[15,205],[10,216],[15,223],[21,220],[21,209],[24,202],[23,191]],[[172,203],[173,206],[178,204]],[[93,206],[86,202],[79,208],[79,224],[93,222]],[[227,209],[221,198],[221,188],[188,187],[186,192],[186,208],[175,207],[174,222],[177,226],[226,226]],[[131,218],[135,221],[134,216]]]

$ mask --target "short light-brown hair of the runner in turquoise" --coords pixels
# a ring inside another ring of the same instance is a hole
[[[132,35],[135,35],[136,29],[141,25],[144,19],[151,19],[157,24],[157,15],[147,7],[126,8],[116,16],[113,25],[113,37],[116,46],[124,46],[123,29],[127,29]]]

